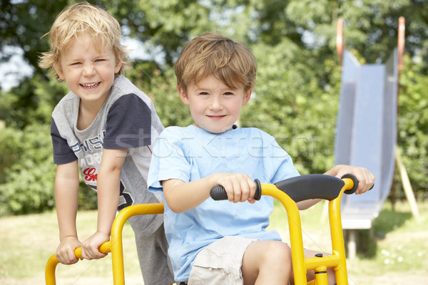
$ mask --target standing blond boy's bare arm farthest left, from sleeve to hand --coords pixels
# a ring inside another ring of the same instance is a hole
[[[63,264],[73,264],[78,261],[74,254],[74,249],[81,247],[76,230],[78,207],[77,160],[64,165],[57,165],[55,201],[60,240],[60,244],[56,249],[56,258]]]

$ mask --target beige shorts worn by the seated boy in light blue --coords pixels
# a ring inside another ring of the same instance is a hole
[[[195,258],[189,285],[242,285],[241,266],[245,250],[257,239],[223,237],[205,247]]]

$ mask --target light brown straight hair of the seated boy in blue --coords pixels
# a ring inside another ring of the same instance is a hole
[[[192,83],[210,75],[229,88],[254,88],[257,62],[250,49],[242,43],[218,33],[205,33],[193,38],[175,63],[177,85],[186,93]]]

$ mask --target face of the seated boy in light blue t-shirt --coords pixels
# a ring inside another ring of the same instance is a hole
[[[231,89],[213,75],[190,84],[187,93],[178,86],[178,92],[183,103],[189,105],[195,124],[210,133],[230,130],[251,95],[251,90]]]

